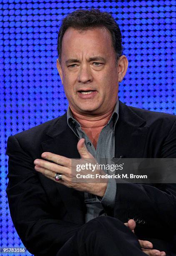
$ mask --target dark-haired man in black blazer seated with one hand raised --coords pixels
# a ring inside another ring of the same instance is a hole
[[[73,182],[71,159],[175,158],[176,117],[118,101],[128,61],[110,14],[68,15],[58,54],[67,113],[8,140],[7,194],[21,240],[35,255],[175,255],[175,184]]]

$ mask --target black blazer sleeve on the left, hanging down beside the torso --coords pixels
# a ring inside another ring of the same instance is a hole
[[[6,192],[15,229],[30,253],[56,255],[80,225],[53,217],[33,158],[23,151],[15,136],[9,137],[6,153],[9,156]]]

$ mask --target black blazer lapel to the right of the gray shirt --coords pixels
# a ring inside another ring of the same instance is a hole
[[[115,129],[115,158],[142,158],[148,127],[146,121],[119,101],[119,118]]]

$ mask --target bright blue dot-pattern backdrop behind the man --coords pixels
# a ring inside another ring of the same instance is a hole
[[[123,53],[129,61],[120,100],[176,114],[175,4],[174,0],[0,0],[0,247],[24,247],[13,227],[5,192],[8,136],[63,115],[68,107],[56,69],[62,18],[77,8],[111,12],[121,28]]]

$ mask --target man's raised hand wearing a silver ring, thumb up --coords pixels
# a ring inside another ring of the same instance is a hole
[[[73,163],[76,165],[85,165],[90,163],[94,165],[97,164],[96,159],[88,152],[84,143],[84,139],[80,139],[78,141],[77,148],[81,159],[76,159],[74,161],[73,159],[64,156],[59,156],[50,152],[44,152],[41,157],[53,161],[53,163],[43,159],[35,159],[35,170],[41,172],[43,175],[54,180],[55,182],[63,184],[67,187],[103,197],[106,192],[108,179],[99,179],[97,182],[91,183],[92,179],[86,179],[86,182],[84,182],[85,179],[82,179],[83,182],[80,182],[80,179],[78,180],[76,178],[76,174],[78,173],[73,167]],[[56,173],[62,174],[62,179],[60,181],[55,180],[54,177]],[[81,174],[84,175],[88,173],[90,173],[88,170],[81,171]],[[105,173],[102,170],[95,169],[95,171],[91,172],[91,174],[96,175]]]

